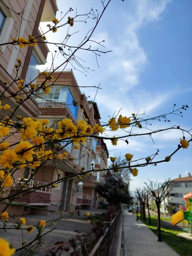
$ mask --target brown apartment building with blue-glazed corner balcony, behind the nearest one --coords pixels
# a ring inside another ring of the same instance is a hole
[[[39,118],[46,118],[52,128],[56,128],[58,121],[64,118],[70,118],[74,123],[84,119],[88,124],[95,125],[101,118],[99,110],[94,102],[87,102],[86,96],[81,93],[72,70],[56,71],[54,74],[54,86],[50,87],[50,93],[44,95],[39,93],[36,101],[42,112]],[[44,79],[41,75],[38,83]],[[51,84],[51,82],[47,82]],[[66,145],[61,143],[62,146]],[[101,144],[98,139],[90,138],[85,143],[80,143],[78,150],[74,149],[73,143],[65,146],[64,151],[68,153],[68,158],[73,160],[67,163],[55,163],[49,166],[49,169],[40,169],[35,175],[37,180],[44,175],[44,182],[48,183],[56,177],[56,169],[61,172],[61,177],[70,174],[81,174],[81,168],[86,171],[102,169],[107,165],[108,151],[103,140]],[[92,164],[93,163],[93,167]],[[66,180],[60,183],[60,186],[54,191],[48,191],[50,194],[49,209],[60,211],[71,211],[75,209],[94,209],[97,207],[97,195],[95,191],[96,181],[99,181],[99,172],[83,176],[81,180]],[[42,194],[41,194],[42,195]],[[43,203],[41,204],[43,206]]]

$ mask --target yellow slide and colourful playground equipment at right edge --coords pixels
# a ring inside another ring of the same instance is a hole
[[[181,221],[181,226],[185,227],[185,220],[187,221],[187,227],[191,228],[192,233],[192,192],[183,196],[185,199],[185,206],[179,206],[179,212],[172,216],[172,225],[176,225]],[[186,229],[185,231],[189,231]]]

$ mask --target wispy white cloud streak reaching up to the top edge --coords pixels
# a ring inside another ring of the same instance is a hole
[[[126,81],[126,87],[121,84],[119,90],[125,92],[139,83],[140,75],[147,64],[147,56],[137,37],[138,30],[147,23],[160,19],[166,5],[172,0],[137,0],[136,12],[127,17],[125,34],[119,39],[119,45],[113,47],[116,56],[108,70],[116,73]],[[129,15],[129,14],[128,14]]]

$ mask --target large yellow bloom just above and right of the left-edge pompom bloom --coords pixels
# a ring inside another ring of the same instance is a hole
[[[26,141],[26,140],[20,141],[20,143],[17,144],[16,147],[14,148],[15,153],[17,153],[18,160],[32,161],[33,160],[33,149],[31,147],[32,147],[32,145],[29,143],[29,141]],[[23,151],[25,151],[25,152],[23,152]]]

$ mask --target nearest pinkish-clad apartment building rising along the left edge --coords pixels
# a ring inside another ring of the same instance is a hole
[[[38,67],[41,64],[46,63],[47,54],[49,49],[46,44],[37,44],[35,47],[23,47],[19,48],[18,45],[13,46],[12,44],[5,44],[12,42],[12,38],[24,37],[28,38],[28,35],[38,37],[41,35],[40,22],[51,22],[58,11],[56,0],[1,0],[0,1],[0,92],[5,90],[4,81],[7,81],[7,86],[12,84],[12,86],[6,90],[6,96],[11,96],[13,92],[16,92],[17,82],[16,78],[16,68],[17,59],[22,60],[22,64],[17,73],[17,76],[26,82],[33,81],[39,73]],[[38,38],[38,41],[42,41],[42,38]],[[36,81],[34,80],[33,83]],[[25,89],[24,89],[25,90]],[[23,95],[25,98],[25,95]],[[2,104],[4,102],[2,101]],[[9,104],[12,109],[15,108],[15,100],[13,98],[6,99],[6,104]],[[36,117],[41,113],[38,108],[38,104],[35,99],[29,99],[22,104],[17,110],[17,114],[22,117]],[[3,116],[3,113],[1,113]],[[14,120],[14,118],[12,118]],[[15,136],[9,137],[8,142],[13,144],[20,140],[17,134]],[[49,167],[47,167],[49,169]],[[23,174],[29,172],[29,169],[18,170],[14,174],[14,178],[17,180],[23,176]],[[35,180],[32,180],[29,184],[30,187],[35,186]],[[49,189],[48,189],[49,190]],[[38,191],[31,193],[31,195],[26,198],[23,197],[20,202],[28,202],[30,200],[32,204],[35,204],[37,197],[49,200],[47,189],[46,191]],[[40,194],[41,193],[41,194]],[[40,199],[41,205],[42,199]],[[19,202],[19,201],[18,201]],[[0,205],[0,209],[4,207]],[[2,208],[3,209],[3,208]],[[9,207],[9,214],[20,214],[25,211],[25,213],[30,212],[29,208],[25,209],[20,207]]]

